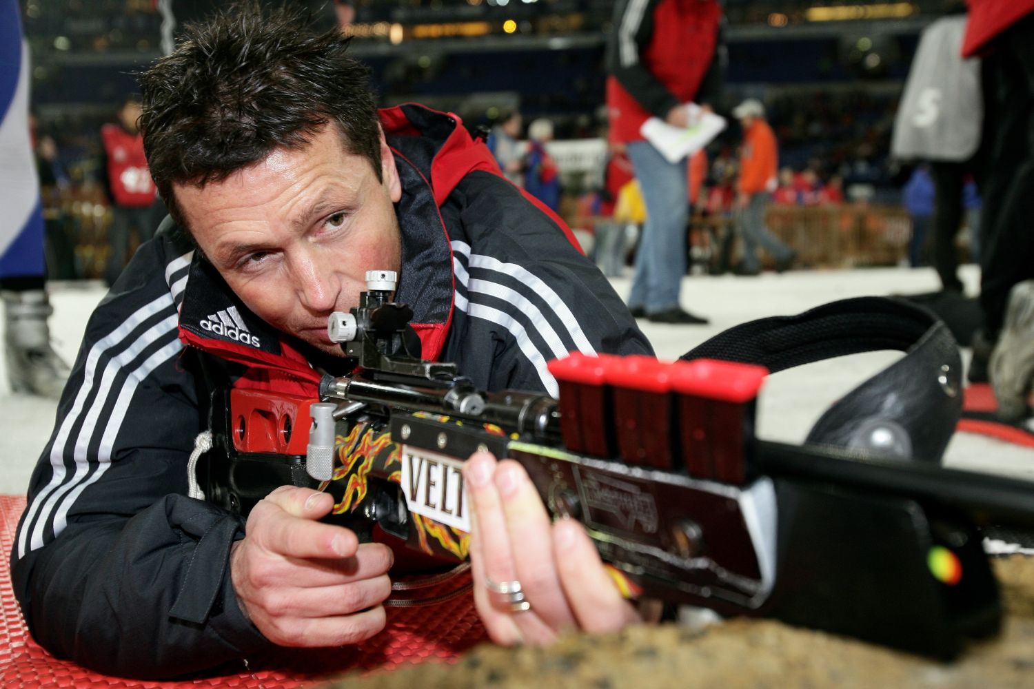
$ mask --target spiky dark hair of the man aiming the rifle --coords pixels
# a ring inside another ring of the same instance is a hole
[[[334,123],[381,179],[369,70],[337,30],[302,10],[234,3],[187,25],[176,51],[141,74],[144,150],[155,186],[186,228],[174,184],[219,182]]]

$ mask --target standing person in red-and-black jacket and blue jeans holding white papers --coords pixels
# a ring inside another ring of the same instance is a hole
[[[686,274],[687,162],[669,162],[640,128],[650,117],[686,127],[683,105],[707,105],[718,95],[721,20],[722,7],[714,0],[622,0],[614,8],[607,45],[610,139],[626,144],[646,203],[629,307],[637,317],[656,322],[707,319],[685,311],[678,302]]]

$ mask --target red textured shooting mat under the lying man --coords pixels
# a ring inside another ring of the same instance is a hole
[[[388,627],[373,638],[353,647],[284,650],[273,658],[250,662],[250,671],[180,682],[143,682],[91,672],[44,651],[29,635],[11,589],[8,554],[24,496],[0,495],[0,686],[2,687],[261,687],[294,688],[318,684],[321,679],[348,670],[387,671],[424,661],[449,662],[486,635],[468,591],[451,581],[428,588],[426,596],[442,602],[415,607],[389,607]],[[467,574],[468,577],[468,574]],[[459,595],[456,595],[459,594]],[[241,668],[247,668],[241,664]]]

